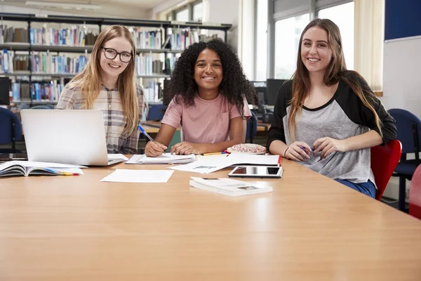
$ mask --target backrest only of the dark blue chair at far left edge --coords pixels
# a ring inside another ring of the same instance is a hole
[[[13,143],[13,123],[15,124],[15,141],[20,141],[22,138],[22,124],[20,124],[18,115],[15,115],[11,110],[0,107],[0,145]]]

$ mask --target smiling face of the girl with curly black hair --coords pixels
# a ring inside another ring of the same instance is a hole
[[[218,53],[209,48],[199,53],[194,65],[194,80],[199,90],[219,88],[222,81],[222,63]]]

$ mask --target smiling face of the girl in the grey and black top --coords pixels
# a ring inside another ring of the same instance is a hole
[[[332,50],[328,45],[328,33],[320,27],[311,27],[302,37],[301,59],[309,72],[325,72]]]

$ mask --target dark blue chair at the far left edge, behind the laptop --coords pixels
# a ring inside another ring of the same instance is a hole
[[[16,149],[16,141],[22,139],[22,124],[18,115],[11,110],[0,107],[0,145],[12,143],[12,148],[0,149],[3,153],[20,153]]]

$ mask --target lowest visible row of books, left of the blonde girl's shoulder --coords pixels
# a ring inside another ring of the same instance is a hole
[[[64,85],[57,81],[49,83],[12,83],[12,100],[58,101]]]

